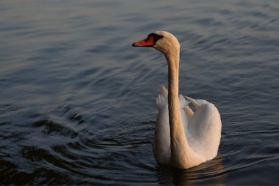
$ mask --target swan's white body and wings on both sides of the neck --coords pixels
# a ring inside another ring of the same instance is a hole
[[[173,166],[170,148],[169,109],[167,103],[167,88],[162,86],[157,98],[158,116],[156,119],[153,152],[158,164]],[[188,97],[186,97],[188,98]],[[179,111],[183,123],[183,133],[188,141],[186,166],[190,168],[216,157],[221,137],[221,121],[218,109],[206,100],[193,100],[197,111],[193,112],[183,95],[179,96]]]

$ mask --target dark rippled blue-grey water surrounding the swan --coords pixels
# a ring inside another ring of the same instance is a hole
[[[167,63],[216,104],[218,157],[159,166],[151,141]],[[0,184],[278,185],[279,1],[0,1]]]

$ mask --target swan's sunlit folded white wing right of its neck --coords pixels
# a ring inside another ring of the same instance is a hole
[[[189,145],[206,160],[210,160],[217,155],[220,144],[222,122],[219,111],[214,104],[206,100],[186,98],[197,109],[185,131]]]

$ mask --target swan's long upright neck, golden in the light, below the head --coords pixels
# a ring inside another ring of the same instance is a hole
[[[171,137],[171,161],[176,167],[188,164],[189,145],[184,133],[179,108],[179,49],[165,54],[169,66],[169,128]]]

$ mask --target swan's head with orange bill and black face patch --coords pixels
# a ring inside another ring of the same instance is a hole
[[[156,31],[150,33],[147,38],[139,42],[134,42],[133,47],[154,47],[163,54],[167,54],[172,51],[179,51],[179,41],[167,31]]]

